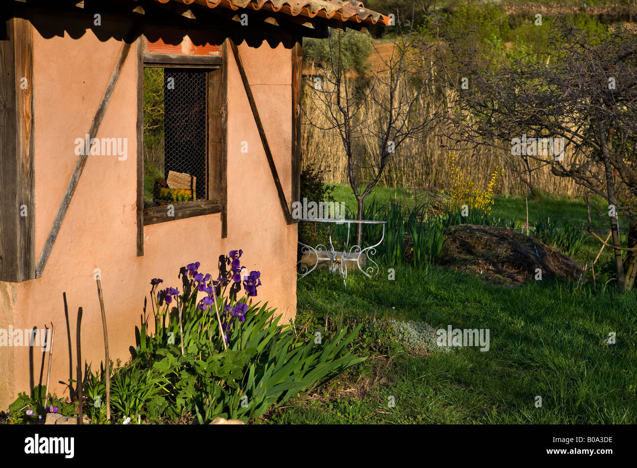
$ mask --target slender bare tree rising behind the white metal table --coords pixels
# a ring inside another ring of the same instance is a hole
[[[435,128],[435,118],[423,119],[422,99],[431,82],[422,74],[417,57],[422,38],[414,32],[399,36],[390,56],[377,50],[382,66],[370,76],[352,76],[343,66],[344,34],[331,30],[327,66],[319,65],[319,76],[309,83],[312,105],[327,124],[316,127],[335,132],[347,155],[347,178],[357,201],[357,219],[362,220],[364,201],[381,180],[387,162],[406,139],[423,138]],[[357,245],[362,242],[362,225],[357,227]]]

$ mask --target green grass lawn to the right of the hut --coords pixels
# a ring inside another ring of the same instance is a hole
[[[392,194],[378,190],[384,200]],[[404,191],[403,200],[407,197]],[[521,202],[498,199],[494,212],[513,217]],[[529,221],[539,213],[585,221],[582,201],[529,201]],[[594,246],[583,248],[584,255],[599,250]],[[615,294],[599,281],[597,288],[585,284],[581,289],[550,280],[497,287],[441,267],[398,267],[395,280],[389,280],[381,266],[371,280],[350,273],[347,289],[340,276],[313,272],[297,282],[297,310],[297,326],[311,317],[319,323],[325,317],[338,321],[341,313],[360,323],[376,313],[434,329],[489,329],[490,349],[376,355],[273,411],[267,422],[637,423],[634,291]],[[615,344],[604,342],[610,332],[616,334]],[[536,408],[537,396],[541,408]]]

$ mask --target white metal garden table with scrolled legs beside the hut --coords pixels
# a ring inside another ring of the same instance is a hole
[[[385,225],[387,221],[372,221],[372,220],[336,220],[336,219],[328,219],[328,218],[301,218],[299,221],[306,222],[318,222],[318,223],[331,223],[331,224],[345,224],[347,223],[347,240],[345,241],[345,245],[343,246],[343,250],[338,252],[336,248],[334,248],[334,244],[332,242],[332,225],[329,227],[329,249],[326,245],[319,244],[316,247],[307,245],[299,241],[299,245],[301,245],[301,260],[297,262],[297,274],[304,278],[308,276],[312,271],[316,269],[319,262],[329,262],[329,271],[331,273],[340,273],[343,278],[343,284],[347,288],[347,283],[345,283],[345,278],[347,278],[347,262],[355,262],[358,266],[359,270],[362,271],[363,274],[371,278],[371,276],[376,276],[378,274],[378,264],[374,260],[370,258],[370,255],[376,254],[376,247],[378,247],[383,239],[385,239]],[[382,235],[380,236],[380,241],[376,244],[371,245],[366,248],[361,248],[359,245],[349,246],[350,243],[350,227],[354,224],[380,224],[383,227]],[[311,255],[314,255],[316,261],[313,265],[308,266],[306,264],[306,260],[310,259]],[[363,265],[361,265],[361,260]],[[373,265],[368,265],[367,261]],[[299,267],[300,265],[300,267]]]

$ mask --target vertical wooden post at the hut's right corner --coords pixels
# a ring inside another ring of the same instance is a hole
[[[292,202],[301,197],[301,36],[292,47]],[[298,222],[298,220],[294,220]]]

